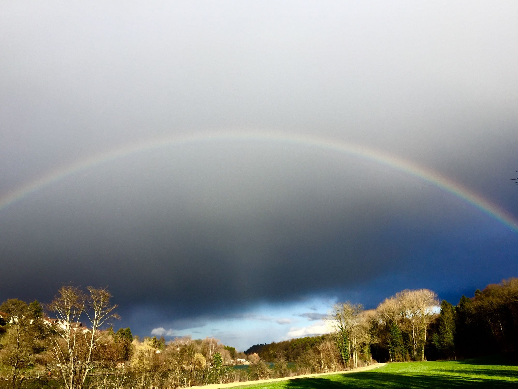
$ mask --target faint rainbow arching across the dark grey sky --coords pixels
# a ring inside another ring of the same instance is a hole
[[[302,145],[306,147],[309,146],[314,148],[321,148],[324,150],[341,152],[351,156],[375,161],[386,166],[391,166],[391,168],[408,173],[412,176],[434,184],[437,187],[458,197],[459,199],[462,199],[465,202],[473,205],[487,215],[499,220],[501,223],[511,228],[511,230],[518,231],[518,221],[516,221],[512,215],[502,210],[498,205],[493,204],[477,193],[439,174],[438,172],[424,168],[423,166],[420,166],[412,161],[388,154],[380,150],[338,140],[312,135],[280,134],[271,132],[224,132],[217,134],[197,133],[185,136],[153,138],[143,142],[127,144],[116,149],[100,152],[99,154],[95,154],[85,159],[80,159],[73,164],[51,171],[48,174],[30,183],[27,183],[18,189],[8,192],[7,195],[0,198],[0,211],[43,187],[51,185],[52,183],[55,183],[67,176],[91,168],[92,166],[100,165],[119,158],[147,152],[158,148],[182,146],[200,142],[213,143],[225,141],[261,141]]]

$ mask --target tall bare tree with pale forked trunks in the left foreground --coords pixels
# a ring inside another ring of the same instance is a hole
[[[117,305],[111,305],[110,298],[103,288],[88,287],[84,293],[76,287],[62,286],[49,305],[57,316],[56,325],[51,327],[57,336],[51,339],[49,349],[66,389],[82,389],[94,368],[96,352],[104,345],[102,327],[119,318],[114,313]],[[83,317],[90,328],[81,323]]]

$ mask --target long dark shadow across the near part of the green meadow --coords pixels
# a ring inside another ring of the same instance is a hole
[[[458,376],[405,376],[392,373],[362,372],[344,374],[338,378],[299,378],[287,382],[290,389],[345,389],[345,388],[516,388],[516,381],[482,380]]]

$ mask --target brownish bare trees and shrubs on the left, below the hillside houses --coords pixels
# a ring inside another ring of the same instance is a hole
[[[6,389],[145,389],[245,381],[231,369],[235,348],[217,339],[164,338],[114,331],[117,305],[103,288],[63,286],[46,313],[38,301],[0,305],[0,377]],[[7,380],[5,380],[7,379]]]

